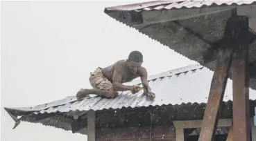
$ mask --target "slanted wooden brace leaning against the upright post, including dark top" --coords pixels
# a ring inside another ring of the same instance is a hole
[[[237,19],[239,18],[233,15],[230,17],[230,19],[228,19],[225,26],[223,40],[221,41],[221,47],[216,60],[216,68],[212,78],[210,94],[208,97],[202,129],[200,131],[198,141],[211,141],[215,135],[214,132],[216,131],[216,124],[218,124],[217,118],[219,107],[223,101],[225,86],[227,84],[230,65],[232,62],[232,55],[234,53],[234,48],[232,45],[238,40],[237,34],[239,34],[239,28],[237,29],[237,27],[240,25],[239,23],[236,23]]]

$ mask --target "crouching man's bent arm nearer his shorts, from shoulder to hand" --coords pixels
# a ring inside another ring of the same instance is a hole
[[[125,86],[121,84],[122,80],[122,71],[123,71],[123,62],[118,61],[115,64],[114,75],[113,75],[113,88],[115,91],[130,91],[132,86]]]

